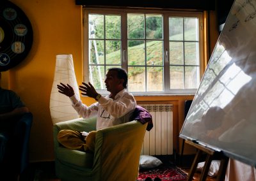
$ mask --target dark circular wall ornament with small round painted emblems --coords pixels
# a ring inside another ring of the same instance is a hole
[[[26,14],[10,1],[0,1],[0,71],[17,66],[28,55],[33,30]]]

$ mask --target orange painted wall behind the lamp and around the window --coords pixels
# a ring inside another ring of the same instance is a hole
[[[77,83],[82,82],[82,8],[75,1],[64,0],[11,0],[31,21],[34,41],[28,57],[15,68],[3,73],[2,87],[19,94],[33,113],[29,143],[29,159],[54,160],[52,122],[49,98],[57,54],[72,54]],[[213,36],[214,41],[216,37]],[[170,101],[174,105],[175,134],[179,135],[184,120],[184,100],[193,96],[137,96],[138,101]],[[93,99],[83,99],[93,103]],[[179,149],[179,139],[175,148]]]

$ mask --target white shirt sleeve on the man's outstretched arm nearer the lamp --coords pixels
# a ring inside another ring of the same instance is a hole
[[[93,117],[97,115],[99,103],[94,103],[90,106],[86,106],[81,100],[76,98],[76,95],[70,97],[72,101],[72,106],[76,112],[83,118]]]

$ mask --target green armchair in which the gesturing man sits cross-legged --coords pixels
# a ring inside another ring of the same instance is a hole
[[[96,130],[96,118],[74,119],[54,124],[54,153],[57,177],[61,180],[125,180],[138,177],[141,146],[148,123],[132,120],[97,131],[94,153],[62,147],[57,140],[61,129]]]

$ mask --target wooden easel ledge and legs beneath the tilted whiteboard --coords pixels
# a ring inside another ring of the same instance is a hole
[[[205,152],[207,154],[207,157],[205,160],[204,169],[203,169],[201,177],[200,177],[200,181],[204,181],[207,178],[207,173],[211,166],[212,158],[213,158],[213,156],[216,156],[216,155],[220,156],[220,159],[221,159],[220,168],[219,168],[218,176],[217,176],[216,180],[218,180],[218,181],[225,180],[225,173],[226,173],[227,165],[228,165],[228,157],[227,156],[224,156],[221,152],[216,152],[215,150],[212,150],[211,148],[206,148],[206,147],[203,147],[196,143],[193,143],[192,141],[186,140],[186,143],[197,148],[196,156],[195,156],[195,159],[191,166],[191,169],[189,170],[189,175],[188,175],[187,181],[193,180],[193,176],[195,174],[197,164],[198,164],[203,152]]]

